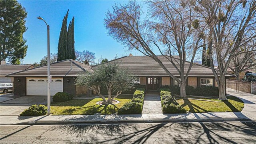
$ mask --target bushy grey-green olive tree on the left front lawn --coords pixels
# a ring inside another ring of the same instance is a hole
[[[123,91],[134,88],[134,76],[128,70],[120,68],[117,63],[108,62],[94,68],[94,72],[79,74],[75,84],[95,91],[103,99],[102,104],[112,104],[114,98]],[[103,87],[108,90],[108,100],[101,93],[101,88]],[[116,93],[113,97],[112,92]]]

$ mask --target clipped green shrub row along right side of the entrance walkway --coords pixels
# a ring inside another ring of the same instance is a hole
[[[179,114],[186,113],[186,110],[183,106],[172,97],[170,89],[160,89],[161,105],[162,112],[164,114]]]

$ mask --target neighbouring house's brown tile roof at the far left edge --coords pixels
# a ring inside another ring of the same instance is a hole
[[[23,65],[18,65],[18,64],[1,64],[0,65],[0,76],[6,76],[7,74],[12,74],[14,72],[19,72],[22,70],[26,70],[29,68],[34,68],[33,65],[31,64],[23,64]]]

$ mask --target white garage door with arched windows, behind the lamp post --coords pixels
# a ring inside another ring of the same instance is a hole
[[[63,78],[52,78],[51,96],[63,92]],[[47,78],[27,78],[28,96],[47,96]]]

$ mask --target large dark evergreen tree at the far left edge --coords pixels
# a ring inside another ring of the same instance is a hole
[[[0,61],[20,64],[28,50],[23,38],[27,30],[26,9],[17,0],[1,0],[0,13]]]

